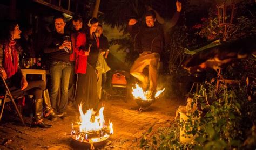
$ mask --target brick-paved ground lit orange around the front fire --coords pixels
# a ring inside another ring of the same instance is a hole
[[[151,126],[157,130],[160,126],[168,126],[168,120],[172,120],[179,105],[184,104],[177,99],[157,99],[151,107],[138,113],[134,110],[137,104],[130,100],[125,103],[122,100],[102,101],[105,105],[104,118],[113,123],[114,134],[106,141],[105,145],[97,149],[139,149],[142,133]],[[30,128],[21,126],[16,118],[8,117],[0,124],[0,149],[89,149],[86,146],[78,146],[71,135],[71,123],[78,119],[78,111],[68,109],[68,118],[51,122],[49,129]],[[6,115],[5,115],[6,116]],[[27,124],[31,118],[24,117]]]

